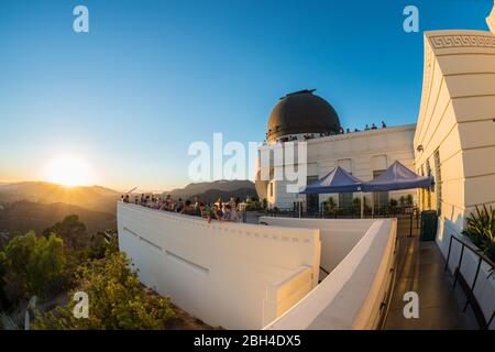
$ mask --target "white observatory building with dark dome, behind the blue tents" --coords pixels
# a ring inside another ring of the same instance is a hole
[[[298,195],[298,193],[287,191],[287,184],[290,182],[278,179],[275,175],[284,175],[284,168],[293,167],[293,165],[277,162],[276,150],[283,148],[288,142],[294,142],[295,148],[297,143],[306,143],[306,184],[323,177],[336,166],[341,166],[358,178],[367,182],[380,176],[395,161],[414,169],[415,130],[415,124],[407,124],[342,133],[337,112],[322,98],[314,95],[314,90],[287,95],[273,109],[266,133],[267,143],[258,151],[258,160],[262,158],[262,153],[270,154],[270,170],[266,172],[270,179],[262,179],[262,166],[258,165],[257,194],[260,198],[266,198],[271,208],[289,209],[294,208],[295,202],[300,201],[306,210],[319,211],[321,204],[330,197],[333,198],[337,207],[350,208],[354,197],[359,197],[358,195]],[[296,163],[298,163],[297,160]],[[375,193],[374,206],[386,207],[391,199],[398,200],[407,195],[416,199],[416,191],[411,190]],[[366,204],[371,206],[371,195],[367,194],[365,197]]]

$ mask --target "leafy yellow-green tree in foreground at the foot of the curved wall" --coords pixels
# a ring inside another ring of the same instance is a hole
[[[81,266],[78,292],[89,297],[89,317],[76,319],[75,301],[55,311],[38,314],[35,329],[166,329],[174,318],[168,299],[144,289],[123,253]]]

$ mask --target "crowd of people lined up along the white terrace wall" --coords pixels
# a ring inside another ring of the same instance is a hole
[[[135,204],[151,209],[202,217],[208,223],[211,222],[211,220],[241,221],[239,216],[240,198],[231,197],[229,202],[223,202],[222,199],[219,198],[216,202],[210,205],[206,201],[201,201],[199,196],[196,196],[194,201],[190,201],[189,199],[183,200],[182,198],[174,199],[170,195],[163,198],[153,194],[142,194],[141,197],[134,196],[134,200],[131,200],[130,195],[122,195],[121,200],[123,202]]]

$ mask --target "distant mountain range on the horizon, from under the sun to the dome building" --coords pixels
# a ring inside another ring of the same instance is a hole
[[[44,182],[0,183],[0,232],[35,230],[41,233],[74,213],[90,233],[114,228],[117,201],[121,195],[101,186],[67,188]],[[256,197],[256,191],[250,180],[217,180],[189,184],[164,195],[176,199],[191,199],[198,195],[204,201],[215,201],[218,198]]]

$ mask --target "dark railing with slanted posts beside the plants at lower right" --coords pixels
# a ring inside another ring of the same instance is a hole
[[[461,273],[461,265],[462,265],[462,260],[463,260],[463,255],[464,255],[464,249],[468,248],[469,250],[471,250],[472,253],[477,255],[477,265],[476,265],[476,272],[474,274],[474,279],[473,279],[473,283],[471,284],[471,286],[469,287],[468,298],[466,298],[466,301],[465,301],[465,305],[464,305],[464,308],[462,309],[462,311],[465,312],[465,310],[468,309],[468,306],[471,304],[473,311],[476,316],[476,320],[479,321],[482,329],[488,329],[488,327],[491,326],[491,323],[495,317],[495,309],[492,312],[492,316],[488,319],[488,321],[486,321],[486,319],[483,315],[483,311],[481,310],[480,305],[477,304],[476,297],[474,296],[474,287],[476,285],[476,280],[477,280],[477,277],[480,274],[482,262],[485,262],[486,264],[488,264],[491,266],[491,270],[490,270],[491,273],[490,273],[488,277],[495,271],[495,263],[493,263],[480,249],[475,248],[474,245],[472,245],[470,243],[462,241],[461,239],[457,238],[454,234],[451,234],[450,242],[449,242],[449,252],[447,254],[447,260],[446,260],[444,272],[447,272],[449,268],[449,260],[450,260],[453,240],[455,240],[457,242],[459,242],[461,244],[461,254],[459,255],[459,262],[454,270],[454,282],[453,282],[452,288],[455,288],[455,285],[460,277],[462,279],[464,279],[462,276],[462,273]],[[464,279],[464,282],[465,282],[465,279]],[[468,283],[466,283],[466,285],[468,285]]]

